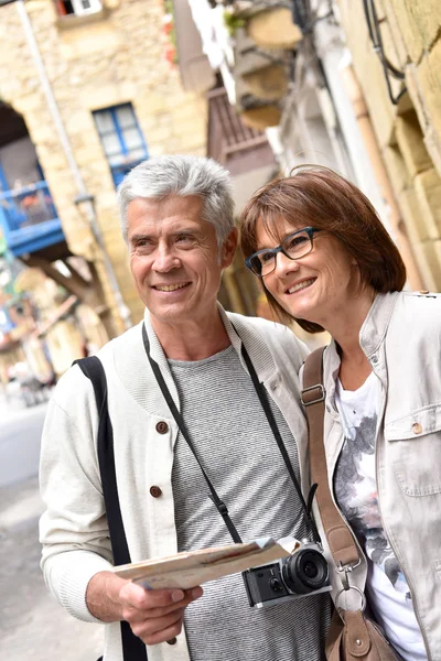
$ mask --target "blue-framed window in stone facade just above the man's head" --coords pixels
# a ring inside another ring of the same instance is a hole
[[[129,170],[149,156],[137,116],[131,104],[123,104],[96,110],[94,119],[115,186],[118,186]]]

